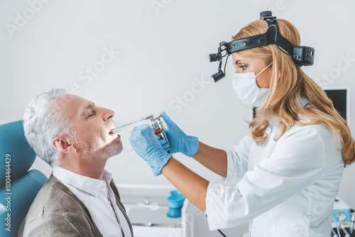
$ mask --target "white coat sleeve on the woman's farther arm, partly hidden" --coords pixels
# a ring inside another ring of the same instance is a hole
[[[251,136],[244,137],[239,145],[235,145],[231,149],[227,149],[227,172],[224,181],[229,182],[243,177],[248,170],[248,158],[253,139]]]

